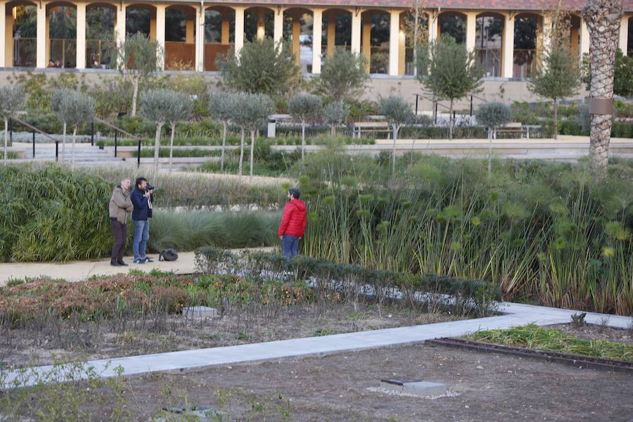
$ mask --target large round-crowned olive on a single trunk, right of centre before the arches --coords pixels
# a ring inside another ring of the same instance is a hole
[[[434,98],[450,101],[449,139],[453,139],[455,101],[479,91],[483,70],[477,64],[477,53],[468,52],[447,34],[430,41],[418,51],[417,79]]]

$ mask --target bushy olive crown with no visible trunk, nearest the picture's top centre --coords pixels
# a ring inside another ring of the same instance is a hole
[[[369,79],[366,65],[362,54],[337,47],[323,63],[321,74],[316,78],[316,92],[333,101],[356,99],[363,94]]]

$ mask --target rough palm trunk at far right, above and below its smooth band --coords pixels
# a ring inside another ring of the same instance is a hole
[[[582,17],[587,22],[587,30],[589,30],[589,60],[592,75],[589,96],[613,100],[615,50],[618,48],[622,22],[622,0],[587,0]],[[589,155],[596,177],[604,177],[609,162],[613,115],[592,114],[591,118]]]

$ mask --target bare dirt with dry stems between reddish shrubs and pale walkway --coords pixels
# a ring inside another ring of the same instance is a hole
[[[183,316],[154,320],[80,321],[46,319],[30,329],[0,328],[0,366],[22,367],[261,343],[399,326],[433,324],[458,318],[397,305],[369,303],[295,305],[276,314],[231,311],[230,316],[191,321]]]

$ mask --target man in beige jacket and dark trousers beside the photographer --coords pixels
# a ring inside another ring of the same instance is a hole
[[[115,243],[110,255],[110,265],[121,267],[127,265],[123,262],[123,251],[127,239],[127,218],[132,212],[132,200],[129,198],[130,179],[123,179],[121,184],[115,187],[110,198],[110,225],[115,237]]]

